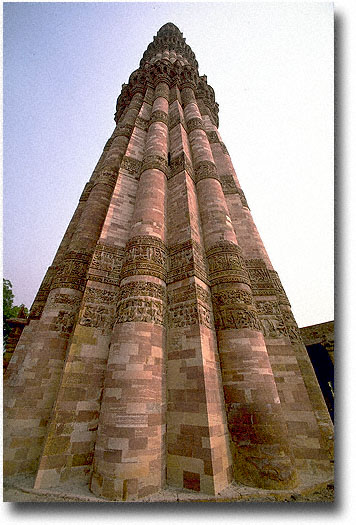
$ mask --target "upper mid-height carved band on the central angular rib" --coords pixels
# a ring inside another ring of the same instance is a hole
[[[207,265],[200,244],[194,240],[178,243],[169,248],[167,283],[195,275],[208,282]]]

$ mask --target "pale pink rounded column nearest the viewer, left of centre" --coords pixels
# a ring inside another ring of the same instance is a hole
[[[165,480],[166,170],[169,88],[155,88],[125,248],[91,490],[112,500]]]

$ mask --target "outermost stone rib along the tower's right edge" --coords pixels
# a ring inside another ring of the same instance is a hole
[[[276,386],[292,452],[298,458],[305,454],[309,456],[301,466],[305,473],[319,468],[319,465],[328,471],[329,460],[333,457],[333,426],[324,398],[286,293],[269,259],[230,155],[202,95],[199,108],[204,113],[204,128],[247,266],[272,371],[278,376]],[[296,433],[298,439],[295,439]],[[319,450],[316,452],[315,445],[318,442]]]

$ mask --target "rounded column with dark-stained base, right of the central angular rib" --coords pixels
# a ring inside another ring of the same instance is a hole
[[[295,484],[286,426],[253,303],[194,92],[182,98],[209,265],[227,421],[237,481],[264,488]]]

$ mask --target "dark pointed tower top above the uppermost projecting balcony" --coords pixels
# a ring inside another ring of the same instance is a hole
[[[164,24],[153,37],[140,62],[140,67],[158,60],[169,60],[182,65],[191,65],[198,72],[198,62],[190,46],[186,44],[183,33],[172,22]]]

